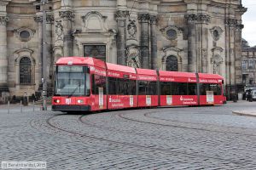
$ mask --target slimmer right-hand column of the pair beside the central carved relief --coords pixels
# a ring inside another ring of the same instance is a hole
[[[150,16],[150,42],[151,42],[151,69],[157,70],[157,37],[156,37],[156,16]]]

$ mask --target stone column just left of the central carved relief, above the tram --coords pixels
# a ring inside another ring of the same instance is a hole
[[[118,10],[116,20],[118,26],[117,34],[117,64],[127,65],[126,59],[126,16],[129,14],[126,10]]]

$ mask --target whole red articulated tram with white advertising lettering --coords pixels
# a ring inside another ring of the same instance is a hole
[[[138,69],[90,57],[64,57],[56,62],[53,111],[224,102],[224,79],[216,74]]]

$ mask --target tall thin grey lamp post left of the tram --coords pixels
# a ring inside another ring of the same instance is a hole
[[[45,3],[47,0],[42,0],[43,4],[43,23],[42,23],[42,46],[43,46],[43,78],[42,78],[42,83],[43,83],[43,111],[47,111],[47,56],[46,56],[46,11],[45,11]]]

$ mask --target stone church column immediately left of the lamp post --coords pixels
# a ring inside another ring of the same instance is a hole
[[[42,67],[42,62],[43,62],[43,37],[42,37],[42,21],[43,21],[43,16],[35,16],[34,20],[38,23],[38,79],[39,79],[39,89],[42,90],[43,84],[42,84],[42,73],[43,73],[43,67]]]

